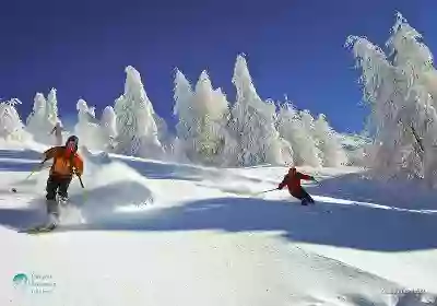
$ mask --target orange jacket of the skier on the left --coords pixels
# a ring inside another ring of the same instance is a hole
[[[54,146],[44,152],[45,161],[54,158],[51,176],[69,177],[83,174],[83,160],[78,153],[69,153],[66,146]]]

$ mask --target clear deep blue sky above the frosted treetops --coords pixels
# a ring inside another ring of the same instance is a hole
[[[343,45],[350,34],[383,44],[395,11],[437,54],[430,0],[1,1],[0,97],[19,97],[25,118],[35,93],[56,87],[61,116],[75,114],[79,98],[99,116],[122,93],[131,64],[156,113],[174,125],[174,68],[192,82],[206,69],[234,99],[234,62],[245,52],[262,98],[286,93],[335,129],[358,131],[367,111]]]

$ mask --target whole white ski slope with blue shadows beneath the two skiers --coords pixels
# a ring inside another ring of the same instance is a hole
[[[437,305],[436,192],[303,168],[321,184],[302,207],[255,195],[285,168],[84,152],[86,190],[74,180],[60,228],[28,236],[47,177],[25,179],[29,146],[0,150],[0,305]]]

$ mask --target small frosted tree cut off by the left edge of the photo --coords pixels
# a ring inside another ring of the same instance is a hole
[[[28,137],[16,111],[16,104],[21,104],[17,98],[0,103],[0,137],[5,140],[23,141]]]

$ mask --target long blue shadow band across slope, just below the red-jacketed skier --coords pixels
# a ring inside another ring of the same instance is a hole
[[[332,213],[323,212],[329,208]],[[371,222],[370,222],[371,221]],[[59,231],[280,231],[287,239],[365,250],[401,251],[437,247],[436,214],[322,203],[218,198],[142,213],[95,219]]]

